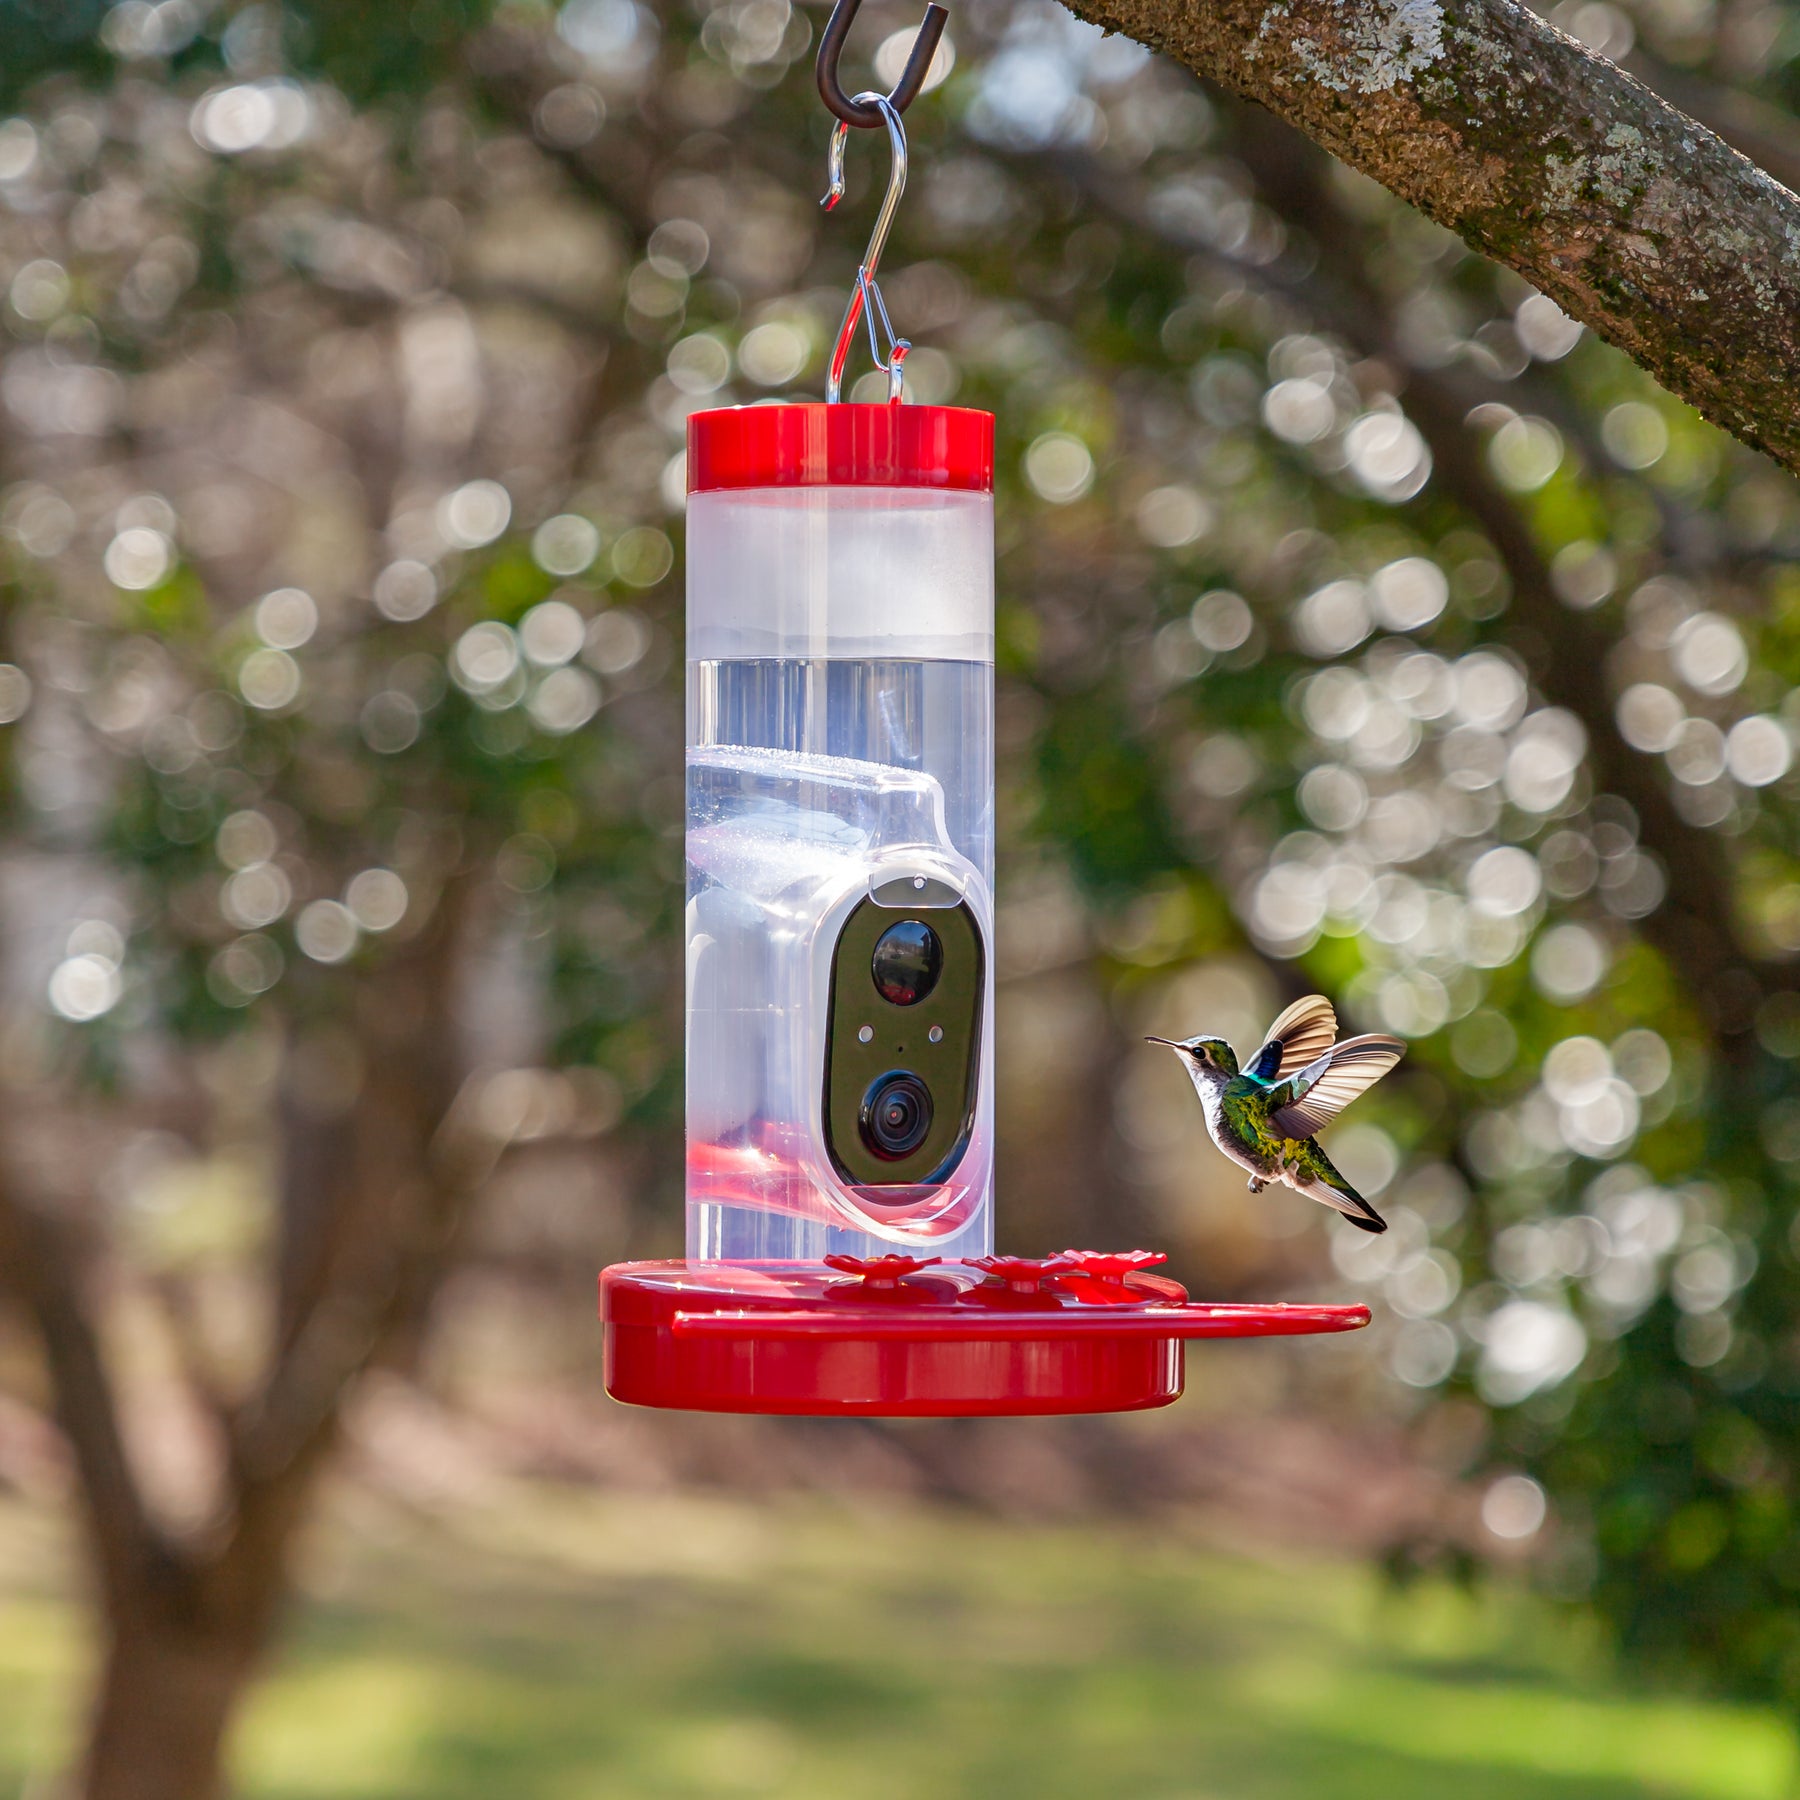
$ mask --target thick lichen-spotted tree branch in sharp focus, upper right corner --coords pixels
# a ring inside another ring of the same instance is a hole
[[[1516,0],[1066,0],[1298,126],[1800,470],[1800,200]]]

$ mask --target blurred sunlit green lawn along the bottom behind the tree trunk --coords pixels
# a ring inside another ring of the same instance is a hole
[[[0,1512],[0,1796],[83,1667]],[[239,1733],[245,1800],[1786,1800],[1771,1714],[1629,1692],[1519,1597],[1165,1532],[518,1490],[358,1501]]]

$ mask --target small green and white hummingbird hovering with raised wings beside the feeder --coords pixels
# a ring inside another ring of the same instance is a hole
[[[1319,1148],[1323,1130],[1357,1094],[1373,1087],[1406,1055],[1397,1037],[1346,1037],[1323,994],[1294,1001],[1269,1026],[1264,1046],[1238,1069],[1222,1037],[1152,1037],[1188,1071],[1213,1143],[1249,1170],[1249,1192],[1285,1183],[1310,1201],[1334,1206],[1364,1231],[1388,1222],[1332,1166]]]

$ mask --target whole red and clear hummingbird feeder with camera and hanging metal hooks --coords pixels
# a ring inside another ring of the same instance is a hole
[[[1355,1330],[1364,1307],[1199,1305],[1154,1251],[994,1255],[994,416],[905,403],[877,266],[823,405],[688,421],[688,1255],[599,1280],[607,1390],[729,1413],[1166,1406],[1201,1337]],[[842,400],[859,322],[887,398]]]

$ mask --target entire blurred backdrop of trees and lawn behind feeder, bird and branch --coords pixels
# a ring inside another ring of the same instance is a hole
[[[1552,18],[1795,176],[1791,7]],[[0,4],[0,1793],[1791,1795],[1800,493],[1048,0],[952,9],[884,283],[999,416],[1001,1246],[1375,1325],[601,1395],[684,419],[817,398],[886,180],[819,211],[821,23]],[[1310,988],[1411,1046],[1379,1238],[1139,1044]]]

